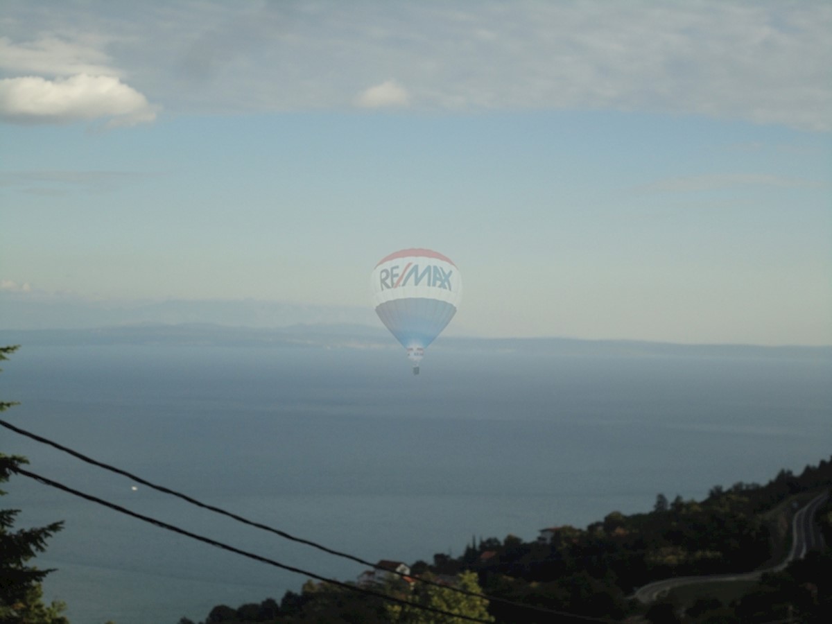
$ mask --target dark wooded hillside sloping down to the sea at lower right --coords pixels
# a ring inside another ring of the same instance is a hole
[[[649,513],[619,512],[586,528],[551,527],[534,542],[513,535],[475,540],[461,557],[443,554],[390,576],[374,590],[417,607],[388,603],[326,583],[307,582],[237,609],[215,607],[205,624],[229,622],[827,622],[832,615],[832,550],[810,552],[781,572],[765,574],[748,591],[724,602],[707,594],[651,605],[632,598],[637,587],[667,577],[747,572],[783,560],[790,518],[799,504],[832,486],[832,461],[800,475],[781,470],[769,483],[716,486],[701,501],[656,497]],[[832,503],[818,513],[825,543],[832,544]],[[418,579],[441,580],[448,589]],[[453,588],[482,592],[475,598]],[[485,598],[488,597],[488,600]],[[463,620],[418,611],[438,606]],[[487,607],[487,610],[485,610]],[[557,612],[560,615],[556,615]],[[183,618],[180,624],[193,624]]]

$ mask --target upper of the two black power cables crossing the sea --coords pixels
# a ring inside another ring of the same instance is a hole
[[[326,547],[323,544],[319,544],[318,542],[313,542],[311,540],[304,539],[302,537],[296,537],[296,536],[291,535],[290,533],[282,531],[278,528],[270,527],[270,526],[262,524],[260,522],[255,522],[255,521],[249,520],[248,518],[243,518],[242,516],[239,516],[235,513],[229,512],[229,511],[226,511],[225,509],[215,507],[215,506],[210,505],[208,503],[202,503],[201,501],[196,500],[196,498],[191,498],[187,494],[183,494],[181,492],[176,492],[176,490],[172,490],[171,488],[166,488],[165,486],[158,485],[156,483],[151,483],[150,481],[147,481],[144,478],[138,477],[137,475],[135,475],[133,473],[129,473],[126,470],[123,470],[121,468],[117,468],[116,466],[112,466],[112,465],[107,464],[107,463],[99,462],[97,459],[93,459],[93,458],[88,457],[87,455],[85,455],[83,453],[79,453],[78,451],[73,450],[72,448],[68,448],[68,447],[66,447],[66,446],[64,446],[60,443],[57,443],[53,440],[50,440],[48,438],[44,438],[40,435],[37,435],[37,433],[32,433],[30,431],[27,431],[26,429],[19,428],[19,427],[13,425],[12,423],[8,423],[5,420],[0,419],[0,425],[2,425],[3,427],[5,427],[7,429],[10,429],[11,431],[13,431],[15,433],[19,433],[22,436],[25,436],[27,438],[31,438],[32,440],[35,440],[36,442],[47,444],[47,446],[51,446],[52,448],[57,448],[57,450],[60,450],[63,453],[68,453],[68,454],[72,455],[72,457],[78,458],[78,459],[82,460],[82,462],[89,463],[93,466],[96,466],[97,468],[102,468],[102,469],[107,470],[111,473],[119,474],[123,477],[131,479],[132,481],[135,481],[136,483],[141,483],[141,485],[144,485],[144,486],[146,486],[148,488],[151,488],[151,489],[155,489],[158,492],[170,494],[171,496],[175,496],[176,498],[180,498],[181,500],[186,501],[186,503],[190,503],[192,505],[195,505],[196,507],[206,509],[210,512],[219,513],[220,515],[223,515],[227,518],[231,518],[231,519],[233,519],[237,522],[241,522],[241,523],[246,524],[250,527],[260,528],[264,531],[271,532],[271,533],[274,533],[275,535],[278,535],[280,537],[288,539],[292,542],[297,542],[297,543],[300,543],[300,544],[304,544],[305,546],[310,546],[310,547],[316,548],[319,551],[326,552],[330,555],[334,555],[335,557],[342,557],[342,558],[345,558],[345,559],[349,559],[350,561],[360,563],[364,566],[372,567],[372,568],[374,568],[376,570],[379,570],[379,571],[382,571],[382,572],[387,572],[387,573],[390,573],[390,574],[394,574],[394,575],[402,577],[402,578],[404,578],[404,577],[412,578],[412,579],[414,579],[418,582],[422,582],[426,585],[430,585],[430,586],[433,586],[433,587],[438,587],[440,589],[448,590],[448,591],[451,591],[451,592],[456,592],[456,593],[462,594],[464,596],[475,597],[475,598],[483,598],[485,600],[488,600],[489,602],[498,602],[500,604],[504,604],[504,605],[507,605],[507,606],[510,606],[510,607],[519,607],[519,608],[525,609],[527,611],[540,612],[542,614],[559,616],[559,617],[572,617],[572,618],[584,620],[584,621],[587,621],[587,622],[604,622],[605,624],[614,624],[615,622],[617,622],[617,620],[611,620],[611,619],[603,618],[603,617],[584,616],[584,615],[579,615],[577,613],[569,613],[569,612],[557,611],[557,610],[554,610],[554,609],[547,609],[546,607],[537,607],[535,605],[528,605],[528,604],[524,604],[522,602],[515,602],[515,601],[512,601],[512,600],[508,600],[506,598],[501,598],[501,597],[497,597],[497,596],[490,596],[488,594],[484,594],[484,593],[481,593],[481,592],[470,592],[466,589],[463,589],[462,587],[453,587],[453,586],[449,586],[449,585],[446,585],[446,584],[441,583],[441,582],[432,581],[428,578],[418,577],[418,576],[414,576],[414,575],[405,574],[404,572],[398,572],[398,571],[395,571],[395,570],[390,570],[387,567],[381,567],[377,563],[369,562],[369,561],[367,561],[367,560],[365,560],[361,557],[356,557],[354,555],[351,555],[348,552],[338,551],[338,550],[335,550],[334,548]],[[352,586],[349,586],[349,587],[352,587]]]

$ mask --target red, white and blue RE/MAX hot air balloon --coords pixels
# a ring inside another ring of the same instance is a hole
[[[429,249],[404,249],[379,260],[370,275],[373,305],[418,374],[424,349],[457,313],[463,281],[457,265]]]

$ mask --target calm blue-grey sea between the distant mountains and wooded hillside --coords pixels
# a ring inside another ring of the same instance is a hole
[[[672,349],[24,345],[2,417],[152,483],[371,562],[536,539],[659,493],[765,483],[832,454],[832,358]],[[34,563],[75,624],[176,624],[365,567],[247,527],[0,428],[28,469],[257,561],[30,478],[16,527],[62,520]],[[300,572],[275,566],[293,567]]]

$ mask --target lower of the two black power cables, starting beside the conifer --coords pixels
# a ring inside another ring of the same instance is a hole
[[[308,572],[307,570],[303,570],[300,567],[289,566],[289,565],[286,565],[285,563],[280,563],[278,561],[275,561],[274,559],[270,559],[269,557],[263,557],[261,555],[258,555],[255,552],[248,552],[248,551],[242,550],[240,548],[230,546],[230,545],[225,544],[223,542],[217,542],[216,540],[211,539],[210,537],[205,537],[205,536],[202,536],[202,535],[198,535],[196,533],[186,531],[186,529],[184,529],[184,528],[176,527],[173,524],[169,524],[168,522],[162,522],[161,520],[157,520],[156,518],[151,518],[150,516],[145,516],[141,513],[133,512],[130,509],[121,507],[121,505],[116,505],[116,503],[110,503],[110,502],[104,500],[103,498],[97,498],[95,496],[92,496],[92,494],[79,492],[76,489],[70,488],[66,485],[63,485],[62,483],[57,483],[57,481],[52,481],[52,479],[42,477],[41,475],[39,475],[37,473],[32,473],[32,472],[30,472],[30,471],[28,471],[24,468],[15,467],[15,468],[12,468],[12,472],[17,473],[17,474],[22,474],[24,477],[32,478],[35,481],[37,481],[38,483],[42,483],[42,484],[47,485],[51,488],[57,488],[59,490],[62,490],[63,492],[70,493],[73,496],[77,496],[78,498],[84,498],[85,500],[90,501],[92,503],[97,503],[97,504],[102,505],[106,508],[110,508],[110,509],[112,509],[112,510],[118,512],[118,513],[124,513],[127,516],[131,516],[132,518],[136,518],[138,520],[141,520],[142,522],[147,522],[147,523],[152,524],[156,527],[163,528],[166,531],[172,531],[172,532],[175,532],[175,533],[179,533],[180,535],[184,535],[185,537],[191,537],[191,539],[195,539],[198,542],[203,542],[203,543],[209,544],[210,546],[221,548],[222,550],[225,550],[225,551],[228,551],[228,552],[233,552],[233,553],[235,553],[237,555],[240,555],[242,557],[248,557],[250,559],[254,559],[255,561],[259,561],[261,563],[266,563],[270,566],[280,567],[281,569],[287,570],[289,572],[295,572],[296,574],[302,574],[304,576],[314,578],[316,581],[329,583],[330,585],[334,585],[335,587],[341,587],[342,589],[347,589],[351,592],[358,592],[358,593],[365,594],[367,596],[373,596],[373,597],[381,598],[382,600],[386,600],[388,602],[396,602],[396,603],[399,603],[401,605],[404,605],[405,607],[413,607],[415,609],[420,609],[422,611],[437,613],[438,615],[450,616],[450,617],[459,617],[463,620],[468,620],[468,622],[490,622],[490,620],[484,620],[484,619],[479,618],[479,617],[466,616],[466,615],[462,615],[462,614],[459,614],[459,613],[452,613],[452,612],[449,612],[449,611],[444,611],[443,609],[439,609],[439,608],[436,608],[436,607],[429,607],[427,605],[420,605],[420,604],[417,604],[417,603],[414,603],[414,602],[406,601],[406,600],[404,600],[404,598],[397,598],[397,597],[394,597],[394,596],[389,596],[388,594],[385,594],[385,593],[382,593],[382,592],[376,592],[372,589],[367,589],[366,587],[358,587],[356,585],[349,585],[349,583],[336,581],[332,578],[322,577],[319,574],[315,574],[314,572]]]

